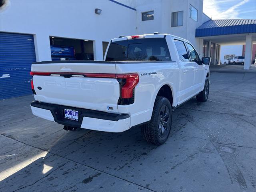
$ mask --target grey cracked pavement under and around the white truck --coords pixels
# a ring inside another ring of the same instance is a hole
[[[1,192],[256,191],[256,73],[212,72],[208,102],[176,109],[159,147],[140,128],[65,131],[32,100],[0,101]]]

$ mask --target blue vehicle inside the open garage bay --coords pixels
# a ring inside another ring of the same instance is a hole
[[[51,45],[52,60],[76,60],[73,46]]]

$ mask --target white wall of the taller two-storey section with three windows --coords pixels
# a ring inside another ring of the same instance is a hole
[[[180,36],[192,42],[198,52],[201,52],[200,39],[195,38],[196,28],[207,20],[203,14],[203,0],[118,0],[136,8],[136,27],[138,34],[168,33]],[[198,10],[198,21],[189,18],[189,5]],[[142,12],[154,10],[154,20],[142,21]],[[183,11],[183,26],[172,27],[172,12]]]

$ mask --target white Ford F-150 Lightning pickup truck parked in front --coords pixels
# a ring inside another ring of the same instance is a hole
[[[104,61],[68,60],[32,64],[34,115],[64,125],[123,132],[140,125],[144,138],[163,144],[172,111],[209,94],[210,58],[170,34],[120,36]]]

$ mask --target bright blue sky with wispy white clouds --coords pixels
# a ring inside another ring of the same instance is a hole
[[[203,12],[212,19],[256,19],[256,0],[204,0]]]

